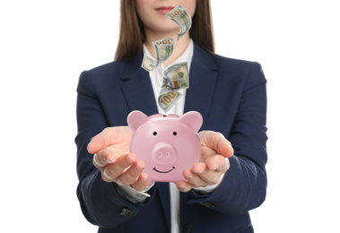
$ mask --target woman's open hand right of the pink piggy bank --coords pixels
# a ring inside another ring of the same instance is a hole
[[[176,184],[182,192],[188,192],[193,187],[216,185],[222,174],[230,168],[228,158],[234,152],[231,142],[214,131],[201,131],[198,136],[202,144],[201,160],[191,169],[183,170],[183,177],[187,180],[179,180]]]

